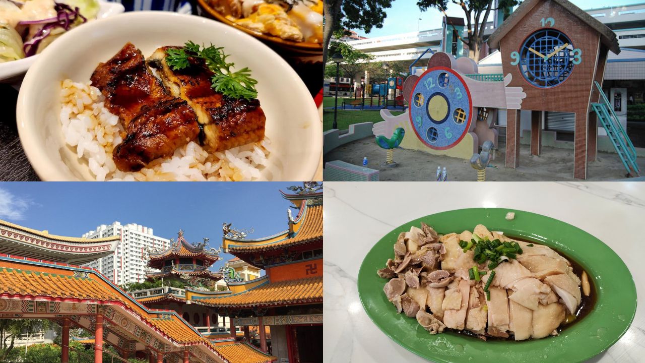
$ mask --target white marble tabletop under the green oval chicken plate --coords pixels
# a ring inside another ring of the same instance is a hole
[[[645,361],[645,244],[635,238],[645,221],[645,183],[326,182],[324,362],[428,362],[390,340],[368,318],[357,292],[359,267],[372,245],[393,228],[471,207],[544,214],[609,245],[630,269],[639,304],[627,333],[589,362]]]

